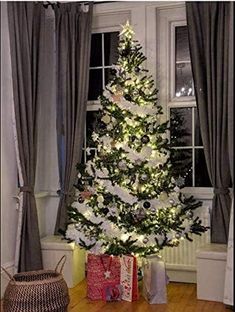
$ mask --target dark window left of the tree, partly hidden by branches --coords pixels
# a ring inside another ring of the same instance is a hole
[[[112,79],[111,67],[117,62],[119,32],[95,33],[91,37],[90,79],[82,162],[96,154],[91,135],[95,130],[100,108],[97,99]]]

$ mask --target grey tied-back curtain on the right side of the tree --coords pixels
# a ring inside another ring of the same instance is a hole
[[[214,188],[211,242],[227,243],[231,185],[228,134],[229,2],[187,2],[195,94],[207,169]]]

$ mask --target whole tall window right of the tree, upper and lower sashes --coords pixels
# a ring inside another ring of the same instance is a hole
[[[186,187],[211,187],[194,98],[187,26],[173,23],[171,35],[171,160],[175,174],[183,178]]]

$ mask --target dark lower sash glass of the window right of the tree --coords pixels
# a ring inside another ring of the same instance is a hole
[[[170,108],[171,160],[185,186],[211,186],[204,157],[196,107]]]

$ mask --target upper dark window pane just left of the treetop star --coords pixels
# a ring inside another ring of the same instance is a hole
[[[116,64],[118,59],[118,32],[104,34],[104,60],[105,66]]]

